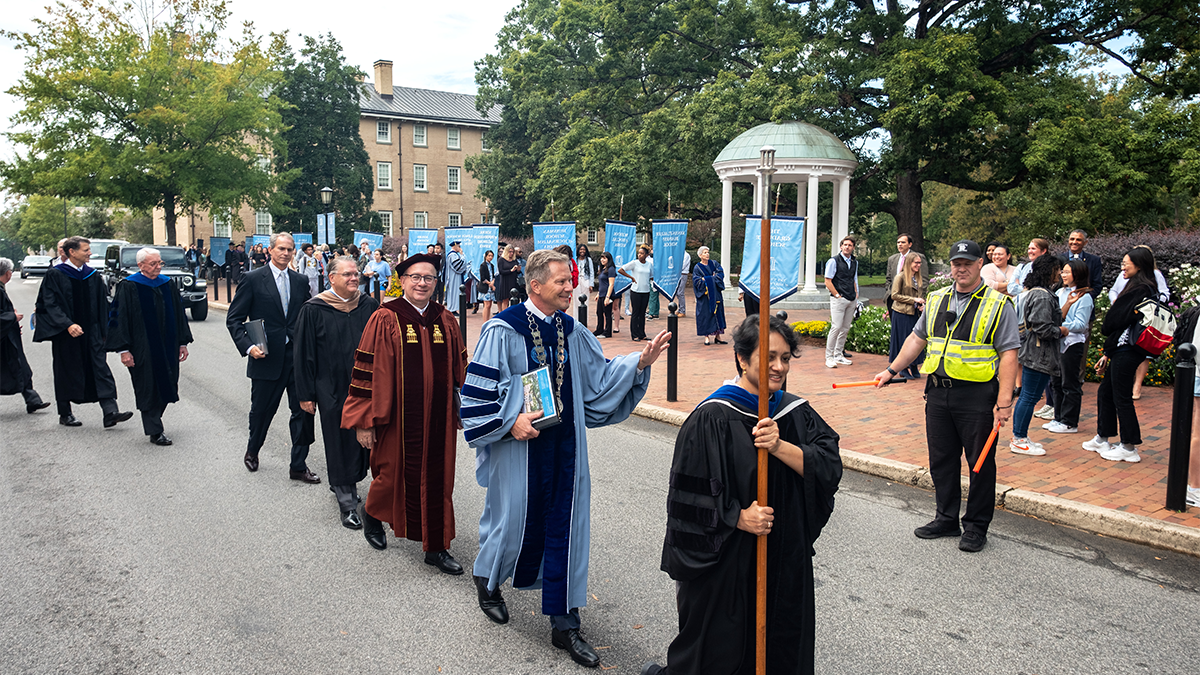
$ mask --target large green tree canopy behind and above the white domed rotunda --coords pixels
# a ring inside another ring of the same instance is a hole
[[[1198,22],[1188,0],[528,0],[478,65],[480,104],[505,106],[480,192],[499,203],[516,184],[527,204],[596,220],[619,195],[626,214],[665,214],[670,191],[703,217],[728,141],[802,120],[859,156],[857,217],[889,214],[923,250],[926,184],[1000,193],[1030,180],[1034,126],[1076,114],[1073,50],[1188,96]]]

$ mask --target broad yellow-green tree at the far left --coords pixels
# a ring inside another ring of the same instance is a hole
[[[162,209],[168,244],[192,205],[286,211],[292,174],[263,161],[286,155],[280,73],[251,25],[223,41],[224,2],[67,0],[47,12],[7,35],[25,52],[8,90],[24,103],[7,133],[19,150],[0,163],[11,191]],[[270,50],[281,46],[275,36]]]

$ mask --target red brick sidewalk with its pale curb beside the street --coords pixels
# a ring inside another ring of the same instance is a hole
[[[210,305],[224,311],[224,303]],[[665,303],[661,311],[661,318],[647,322],[648,334],[666,329]],[[740,307],[727,307],[726,318],[732,328],[744,313]],[[788,316],[790,322],[828,318],[824,311],[797,311]],[[468,351],[479,340],[481,324],[481,313],[467,315]],[[595,328],[594,310],[588,324]],[[695,325],[690,312],[679,318],[679,400],[666,400],[667,357],[664,352],[654,365],[649,390],[636,414],[679,425],[721,382],[736,375],[731,346],[706,347],[703,338],[695,334]],[[600,340],[600,344],[608,358],[642,348],[642,344],[629,339],[628,321],[622,322],[618,335]],[[806,346],[792,362],[787,388],[808,399],[841,435],[847,468],[932,489],[926,468],[924,380],[884,389],[833,389],[834,382],[871,380],[887,365],[887,357],[854,354],[853,362],[852,366],[827,369],[823,347]],[[1010,426],[1001,429],[992,449],[1000,483],[997,506],[1110,537],[1200,555],[1200,509],[1176,513],[1163,506],[1172,390],[1142,389],[1142,398],[1136,401],[1145,441],[1139,448],[1141,462],[1129,464],[1105,461],[1080,447],[1092,437],[1096,426],[1096,389],[1094,383],[1084,384],[1079,434],[1050,434],[1040,428],[1043,420],[1033,418],[1030,437],[1045,446],[1044,456],[1008,452]],[[964,464],[964,479],[967,471]],[[929,506],[932,514],[932,497]]]

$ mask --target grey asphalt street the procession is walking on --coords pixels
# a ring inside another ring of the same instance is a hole
[[[29,313],[37,281],[8,292]],[[30,342],[53,400],[49,345]],[[192,323],[170,448],[100,406],[67,429],[53,406],[0,399],[0,673],[582,673],[550,644],[538,592],[504,587],[512,621],[480,613],[470,577],[424,565],[389,533],[346,530],[325,484],[288,479],[286,406],[241,464],[250,381],[224,315]],[[115,354],[122,410],[130,378]],[[838,426],[839,414],[818,411]],[[602,668],[637,673],[673,638],[659,571],[674,428],[641,419],[589,434],[590,601],[583,634]],[[310,467],[324,478],[322,447]],[[360,485],[365,494],[366,482]],[[478,550],[482,489],[460,444],[457,539]],[[997,513],[988,548],[912,536],[932,495],[847,473],[817,542],[817,671],[1195,673],[1200,561]]]

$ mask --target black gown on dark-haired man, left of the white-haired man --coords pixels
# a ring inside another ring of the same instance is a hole
[[[54,399],[74,404],[115,399],[116,382],[104,353],[108,294],[100,274],[86,265],[52,267],[37,291],[35,313],[34,341],[49,341],[54,356]],[[73,323],[83,335],[67,333]]]

